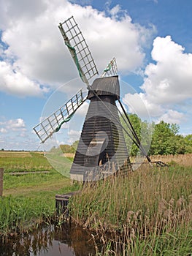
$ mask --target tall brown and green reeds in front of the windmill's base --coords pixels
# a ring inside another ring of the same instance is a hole
[[[191,255],[192,167],[149,169],[88,184],[72,219],[93,232],[98,255]]]

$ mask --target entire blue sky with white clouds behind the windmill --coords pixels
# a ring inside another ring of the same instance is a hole
[[[126,110],[191,134],[191,10],[191,0],[0,0],[0,149],[39,149],[33,127],[86,91],[58,29],[72,15],[99,75],[116,58]],[[79,138],[87,109],[54,143]]]

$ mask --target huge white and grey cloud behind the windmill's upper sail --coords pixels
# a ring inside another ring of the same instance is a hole
[[[77,70],[58,30],[58,23],[72,15],[100,72],[113,56],[117,57],[121,72],[135,71],[142,65],[145,58],[142,47],[154,29],[132,23],[118,5],[109,15],[66,0],[1,1],[0,42],[6,45],[1,46],[0,62],[4,66],[1,91],[36,96],[47,92],[46,86],[55,88],[77,78]]]

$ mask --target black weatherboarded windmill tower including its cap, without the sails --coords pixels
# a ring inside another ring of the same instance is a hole
[[[70,170],[72,179],[94,181],[130,166],[115,101],[118,75],[97,78],[88,91],[90,105]]]

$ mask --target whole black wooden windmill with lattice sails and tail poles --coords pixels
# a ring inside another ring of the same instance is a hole
[[[64,23],[59,23],[58,28],[81,80],[87,86],[88,94],[84,95],[80,89],[55,113],[34,127],[41,142],[45,143],[54,132],[58,132],[62,124],[70,121],[77,109],[88,99],[90,104],[70,170],[71,178],[78,181],[95,181],[120,169],[131,169],[123,132],[133,140],[148,162],[151,162],[120,102],[120,83],[115,58],[90,85],[89,80],[99,72],[73,16]],[[121,111],[116,102],[119,103]],[[126,128],[120,123],[120,115],[127,125]]]

